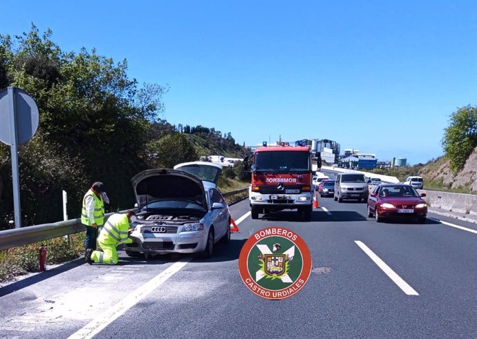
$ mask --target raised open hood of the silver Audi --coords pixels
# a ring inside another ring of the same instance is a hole
[[[207,197],[200,178],[166,168],[156,168],[135,175],[131,182],[138,207],[154,200],[190,200],[207,211]]]

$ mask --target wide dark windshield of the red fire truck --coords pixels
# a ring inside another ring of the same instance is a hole
[[[308,172],[310,153],[297,151],[258,152],[254,156],[255,171]]]

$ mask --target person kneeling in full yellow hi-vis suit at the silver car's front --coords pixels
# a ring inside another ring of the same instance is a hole
[[[133,242],[133,239],[129,237],[129,231],[131,231],[129,223],[134,214],[134,211],[131,210],[126,213],[115,213],[109,217],[97,238],[103,252],[86,250],[86,262],[88,264],[91,265],[93,262],[106,265],[118,264],[116,247],[119,244],[131,244]]]

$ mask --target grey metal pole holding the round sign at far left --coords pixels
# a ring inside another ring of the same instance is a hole
[[[13,209],[15,211],[15,229],[21,227],[21,206],[20,206],[20,177],[18,173],[18,150],[17,150],[17,110],[15,108],[15,88],[8,87],[8,101],[10,112],[13,112],[10,119],[11,153],[12,153],[12,182],[13,182]]]

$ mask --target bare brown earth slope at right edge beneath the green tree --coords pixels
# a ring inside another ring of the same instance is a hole
[[[462,193],[477,193],[477,147],[471,153],[465,166],[453,175],[449,160],[445,157],[440,157],[433,162],[429,162],[420,168],[419,174],[424,177],[424,185],[429,188],[438,188],[444,186],[445,188],[460,191]]]

